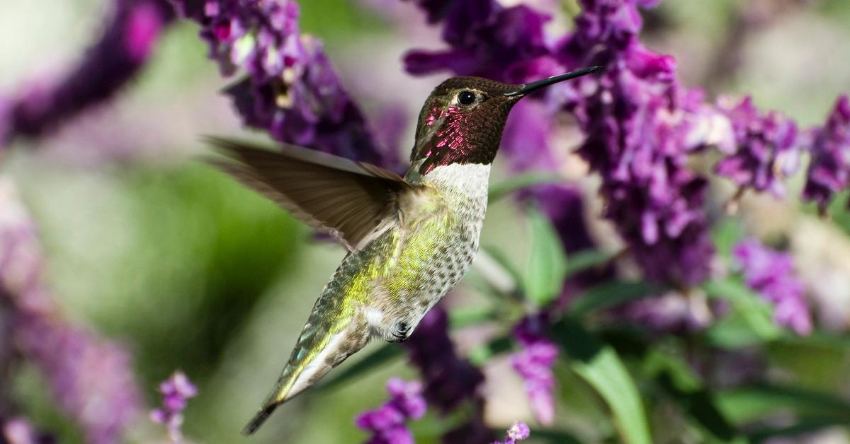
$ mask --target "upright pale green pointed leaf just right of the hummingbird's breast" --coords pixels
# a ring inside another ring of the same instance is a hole
[[[529,211],[531,254],[525,272],[525,296],[537,306],[545,306],[561,293],[567,261],[561,239],[552,223],[540,211]]]

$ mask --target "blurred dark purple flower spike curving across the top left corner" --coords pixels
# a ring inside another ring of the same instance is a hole
[[[67,75],[54,84],[33,82],[0,104],[0,144],[15,136],[39,137],[111,98],[144,66],[173,19],[165,0],[116,0],[113,8],[99,40]]]

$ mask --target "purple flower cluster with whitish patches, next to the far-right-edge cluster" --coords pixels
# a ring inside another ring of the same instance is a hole
[[[717,163],[717,174],[741,188],[783,196],[782,180],[800,166],[796,123],[775,111],[762,115],[749,96],[737,104],[722,98],[719,109],[732,121],[737,149]]]

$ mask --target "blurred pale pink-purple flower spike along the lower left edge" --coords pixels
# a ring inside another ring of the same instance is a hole
[[[139,389],[122,346],[65,323],[41,284],[36,230],[0,177],[0,308],[20,357],[45,374],[56,403],[77,421],[87,442],[122,440],[138,417]]]

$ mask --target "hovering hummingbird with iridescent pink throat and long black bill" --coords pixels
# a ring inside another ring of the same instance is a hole
[[[467,273],[479,248],[490,164],[513,104],[592,66],[523,85],[453,77],[433,90],[404,177],[379,166],[286,145],[271,151],[209,138],[213,160],[348,254],[315,302],[277,383],[242,432],[306,390],[372,339],[404,341]]]

